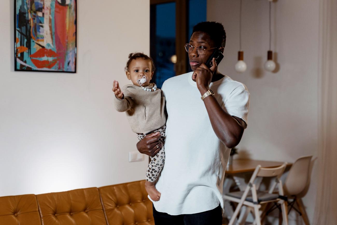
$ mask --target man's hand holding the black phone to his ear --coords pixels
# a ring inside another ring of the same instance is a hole
[[[216,70],[217,64],[215,63],[215,58],[213,58],[212,61],[213,66],[211,68],[208,68],[205,63],[202,63],[200,67],[195,69],[192,75],[192,79],[196,81],[196,86],[201,94],[205,94],[209,89],[213,73]]]

